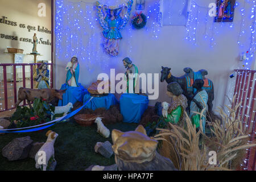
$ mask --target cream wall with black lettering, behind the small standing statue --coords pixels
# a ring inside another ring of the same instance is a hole
[[[38,16],[38,4],[46,4],[46,16]],[[51,31],[51,0],[1,0],[0,18],[7,16],[8,20],[17,22],[17,26],[10,26],[0,23],[0,34],[18,36],[18,40],[2,39],[0,36],[0,63],[13,63],[13,55],[4,53],[7,52],[7,47],[24,49],[24,54],[31,53],[33,44],[19,41],[19,38],[32,39],[36,33],[38,40],[43,38],[43,41],[51,42],[51,34],[44,32],[30,31],[27,26],[46,27]],[[19,24],[26,24],[26,28],[20,28]],[[40,40],[39,40],[40,42]],[[37,50],[43,56],[38,56],[38,60],[51,61],[51,46],[38,44]],[[34,56],[24,56],[23,63],[34,63]]]

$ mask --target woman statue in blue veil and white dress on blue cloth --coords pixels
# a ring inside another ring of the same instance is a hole
[[[77,57],[72,57],[66,67],[67,77],[66,84],[69,86],[79,86],[79,63]]]

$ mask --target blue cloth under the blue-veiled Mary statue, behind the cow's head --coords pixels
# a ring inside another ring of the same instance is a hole
[[[58,106],[65,106],[69,102],[75,104],[77,101],[82,102],[84,95],[88,93],[87,89],[84,88],[81,84],[79,86],[68,86],[67,84],[63,84],[60,90],[67,89],[63,94],[63,100],[59,100]]]

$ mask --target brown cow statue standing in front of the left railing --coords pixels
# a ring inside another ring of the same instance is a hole
[[[59,100],[63,100],[63,94],[65,90],[56,90],[56,89],[27,89],[27,88],[19,88],[18,92],[18,101],[15,106],[17,107],[20,102],[27,100],[30,109],[32,109],[31,102],[35,100],[35,98],[40,98],[46,100],[47,103],[52,102],[55,98]]]

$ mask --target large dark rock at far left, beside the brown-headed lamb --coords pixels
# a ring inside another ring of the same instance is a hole
[[[15,138],[2,149],[2,155],[9,161],[26,159],[33,140],[30,137]]]

